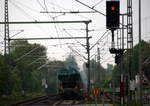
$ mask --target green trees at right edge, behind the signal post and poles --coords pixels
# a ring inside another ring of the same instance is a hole
[[[150,42],[141,41],[141,64],[142,71],[150,80]],[[123,73],[127,75],[129,72],[129,67],[131,67],[131,76],[132,78],[139,73],[139,44],[135,45],[133,48],[133,55],[131,57],[131,63],[128,61],[129,50],[124,53],[123,58]],[[113,70],[113,79],[115,81],[116,86],[119,86],[120,81],[120,64],[116,65]]]

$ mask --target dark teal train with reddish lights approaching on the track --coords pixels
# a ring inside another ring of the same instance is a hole
[[[58,73],[59,94],[65,99],[81,99],[83,97],[83,82],[79,71],[75,68],[63,68]]]

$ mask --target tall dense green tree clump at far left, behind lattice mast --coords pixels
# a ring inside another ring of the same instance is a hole
[[[0,55],[0,96],[42,92],[41,72],[37,69],[44,63],[31,64],[41,57],[46,62],[44,46],[27,41],[12,42],[10,54]]]

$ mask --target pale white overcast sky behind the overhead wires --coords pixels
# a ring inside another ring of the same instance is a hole
[[[106,31],[105,27],[105,16],[94,13],[94,14],[44,14],[41,11],[92,11],[91,9],[81,5],[75,0],[8,0],[9,1],[9,21],[53,21],[54,17],[57,21],[68,21],[68,20],[92,20],[89,24],[89,30],[96,30],[89,32],[91,46],[102,36]],[[105,2],[106,0],[80,0],[81,2],[99,10],[106,14]],[[120,0],[121,13],[125,13],[126,1]],[[150,39],[150,0],[142,1],[142,38]],[[138,42],[138,0],[133,0],[133,17],[134,17],[134,44]],[[0,0],[0,21],[4,21],[4,0]],[[66,30],[64,30],[66,29]],[[10,36],[18,33],[19,30],[24,32],[15,36],[15,38],[25,37],[70,37],[71,36],[82,36],[85,37],[85,24],[30,24],[30,25],[10,25]],[[4,26],[0,25],[0,42],[3,41],[4,37]],[[149,36],[148,36],[149,34]],[[86,44],[86,40],[78,40],[82,44]],[[48,49],[48,56],[50,59],[62,60],[72,51],[68,48],[71,47],[78,51],[81,55],[86,55],[86,50],[80,44],[69,44],[66,43],[77,43],[76,40],[41,40],[41,41],[30,41],[31,43],[41,43]],[[106,67],[107,63],[114,63],[112,55],[109,53],[111,43],[111,36],[105,37],[99,45],[95,46],[91,50],[91,55],[96,53],[97,47],[101,48],[101,63]],[[61,45],[61,46],[60,46]],[[3,44],[0,44],[1,50]],[[76,53],[73,53],[76,54]],[[96,53],[97,54],[97,53]],[[81,56],[76,56],[78,61],[83,62]],[[92,58],[95,58],[93,56]],[[85,61],[85,60],[84,60]],[[82,63],[81,62],[81,63]]]

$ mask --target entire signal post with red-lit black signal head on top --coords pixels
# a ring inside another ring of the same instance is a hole
[[[124,81],[123,81],[123,53],[124,44],[122,48],[115,48],[114,32],[119,29],[120,26],[120,1],[106,1],[106,27],[112,32],[112,46],[109,49],[111,54],[115,54],[115,63],[120,63],[120,104],[124,105]],[[122,37],[123,38],[123,37]],[[123,39],[124,40],[124,39]]]

